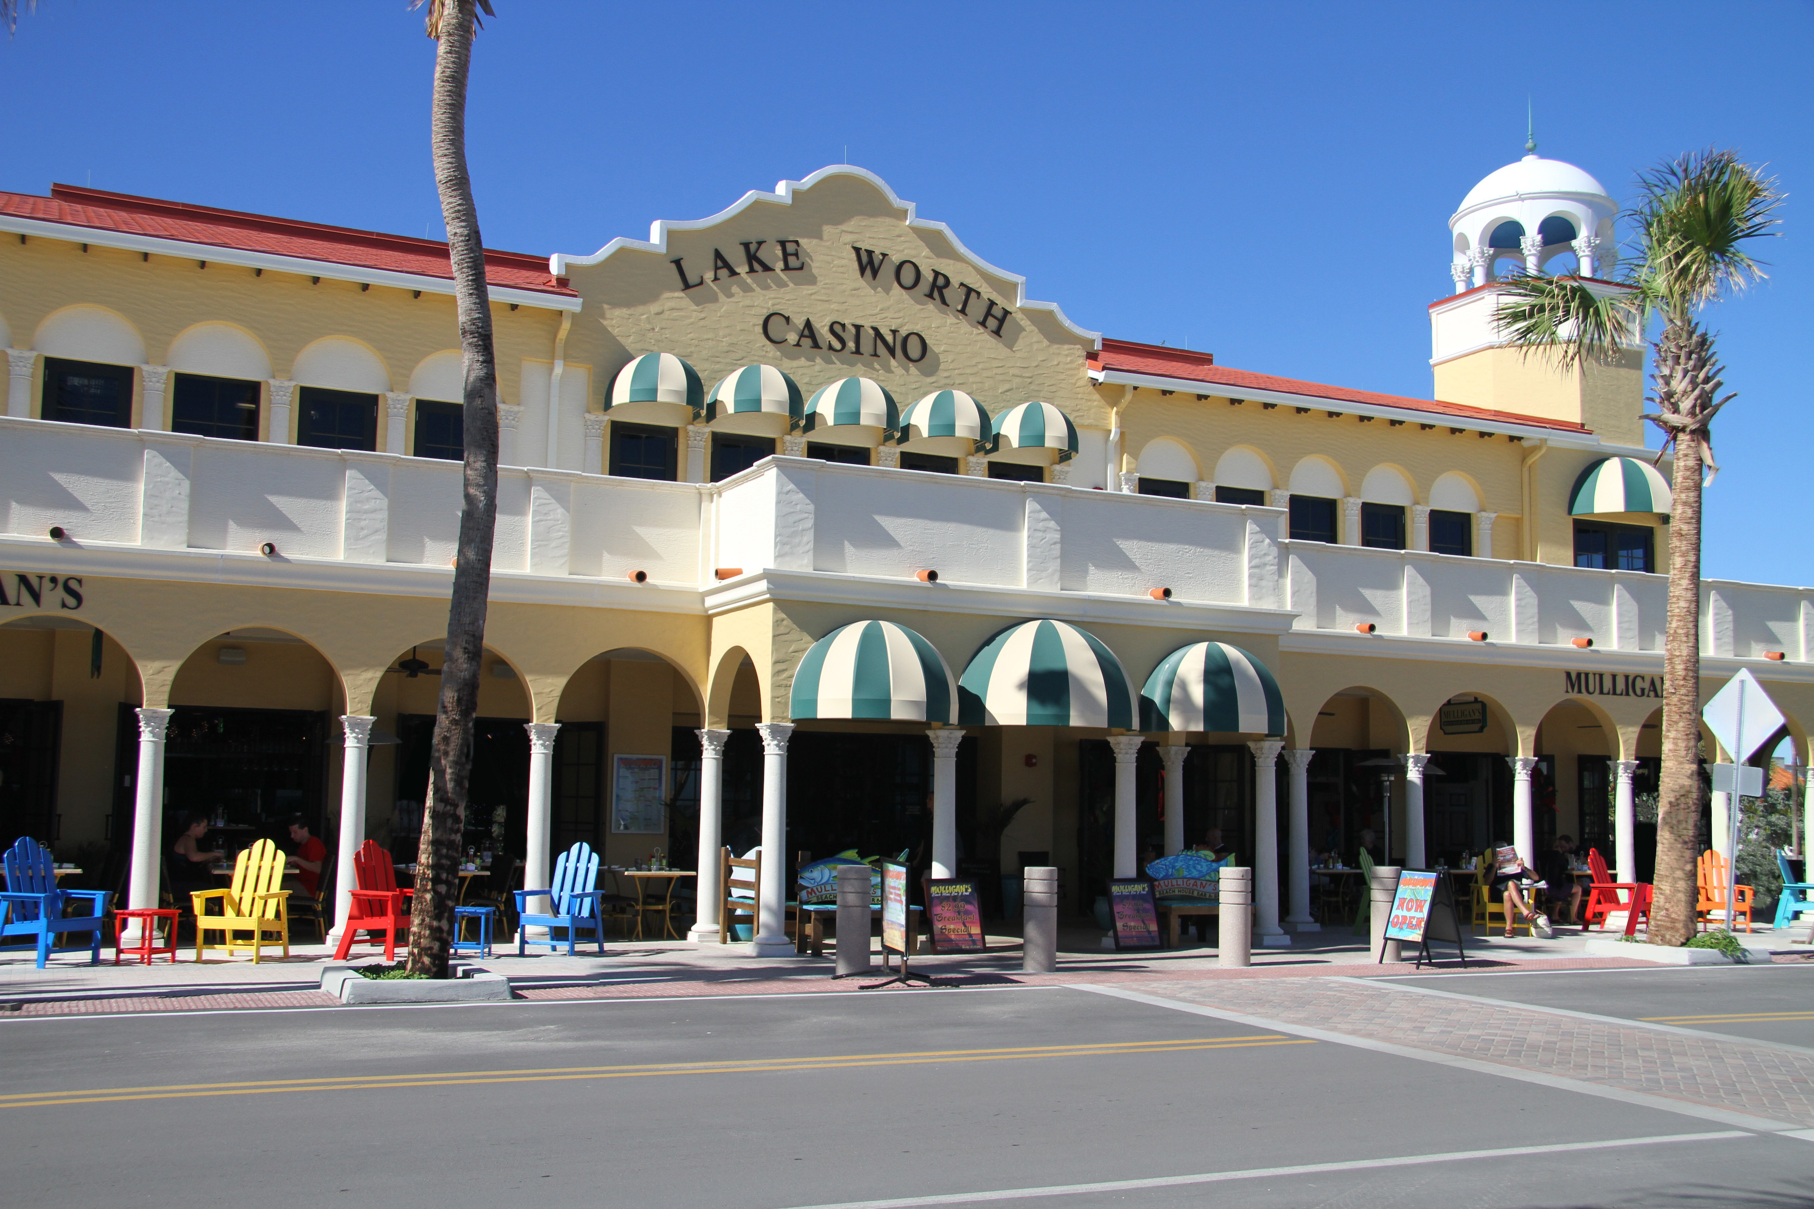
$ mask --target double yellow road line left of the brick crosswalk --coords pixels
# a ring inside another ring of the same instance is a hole
[[[649,1078],[658,1075],[760,1075],[764,1071],[827,1071],[862,1066],[922,1066],[929,1062],[1003,1062],[1012,1059],[1116,1057],[1121,1053],[1177,1053],[1185,1049],[1243,1049],[1255,1046],[1310,1046],[1310,1039],[1259,1033],[1195,1040],[1126,1040],[1079,1046],[1019,1046],[1010,1049],[927,1049],[849,1057],[746,1059],[726,1062],[664,1062],[648,1066],[568,1066],[522,1071],[446,1071],[432,1075],[345,1075],[268,1082],[172,1084],[163,1088],[94,1088],[80,1091],[24,1091],[0,1095],[0,1107],[53,1104],[109,1104],[123,1100],[187,1100],[219,1095],[276,1095],[283,1091],[370,1091],[383,1088],[452,1088],[470,1084],[570,1082],[586,1078]]]

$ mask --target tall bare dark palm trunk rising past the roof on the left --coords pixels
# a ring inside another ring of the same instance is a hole
[[[444,979],[459,901],[459,850],[472,774],[472,729],[479,711],[484,611],[492,589],[492,529],[497,522],[497,366],[492,303],[484,285],[484,245],[466,176],[466,69],[472,60],[475,0],[446,0],[435,51],[434,163],[441,216],[448,228],[464,384],[466,464],[459,556],[448,607],[441,703],[430,752],[428,808],[410,906],[410,973]]]

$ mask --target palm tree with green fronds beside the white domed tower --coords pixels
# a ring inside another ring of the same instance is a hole
[[[1645,415],[1674,444],[1669,526],[1669,622],[1663,642],[1663,769],[1656,812],[1653,944],[1694,935],[1694,827],[1700,819],[1700,531],[1702,473],[1723,373],[1703,310],[1763,277],[1751,239],[1776,234],[1774,178],[1731,150],[1702,150],[1638,176],[1638,232],[1624,277],[1607,290],[1582,277],[1515,276],[1502,288],[1498,334],[1560,370],[1611,363],[1660,321]],[[1658,460],[1662,453],[1658,453]]]

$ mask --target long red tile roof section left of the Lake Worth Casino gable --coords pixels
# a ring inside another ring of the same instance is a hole
[[[100,189],[51,185],[49,198],[0,192],[0,214],[152,239],[288,256],[327,265],[454,279],[448,245],[435,239],[299,223],[183,201],[111,194]],[[484,266],[486,283],[493,286],[577,297],[564,277],[548,274],[548,261],[542,257],[486,250]]]

